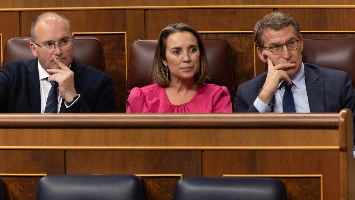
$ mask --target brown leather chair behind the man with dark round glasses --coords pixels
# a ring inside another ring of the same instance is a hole
[[[355,87],[355,38],[303,39],[303,43],[302,62],[347,72]]]

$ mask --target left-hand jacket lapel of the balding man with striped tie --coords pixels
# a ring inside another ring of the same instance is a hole
[[[31,99],[34,113],[41,112],[41,99],[39,91],[38,59],[35,59],[28,67],[27,89]]]

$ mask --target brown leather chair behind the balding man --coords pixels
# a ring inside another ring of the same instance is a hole
[[[15,37],[6,42],[3,64],[15,60],[32,60],[30,37]],[[95,69],[106,71],[101,41],[97,37],[75,37],[74,59]]]

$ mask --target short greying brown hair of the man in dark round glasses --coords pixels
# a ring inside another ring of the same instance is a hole
[[[256,22],[254,26],[255,46],[262,48],[262,46],[264,45],[264,30],[271,29],[278,31],[289,25],[292,25],[295,28],[297,36],[300,37],[300,25],[298,24],[297,20],[291,15],[277,11],[265,15],[263,18],[261,18],[261,20]]]

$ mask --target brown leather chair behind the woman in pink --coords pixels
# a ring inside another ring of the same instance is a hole
[[[230,58],[229,44],[225,40],[220,39],[202,41],[206,49],[208,67],[212,77],[212,80],[208,81],[208,83],[226,86],[230,93],[232,105],[234,106],[236,83]],[[157,43],[158,40],[146,39],[136,40],[132,43],[126,86],[126,101],[132,88],[152,84],[148,78],[148,74],[152,68]]]

